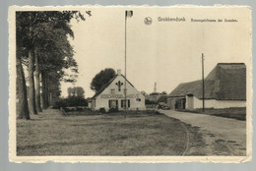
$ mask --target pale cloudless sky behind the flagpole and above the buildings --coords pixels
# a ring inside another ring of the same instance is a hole
[[[124,8],[88,7],[80,9],[86,21],[71,22],[75,38],[74,58],[79,65],[75,85],[62,83],[62,96],[69,86],[82,86],[86,97],[100,70],[120,69],[124,74],[125,10],[133,10],[127,19],[127,79],[140,91],[170,93],[181,83],[202,78],[202,53],[205,77],[218,63],[245,63],[251,66],[250,11],[247,8]],[[152,24],[146,25],[146,17]],[[185,22],[162,22],[162,18],[184,18]],[[223,22],[191,22],[223,20]],[[233,19],[237,22],[224,22]]]

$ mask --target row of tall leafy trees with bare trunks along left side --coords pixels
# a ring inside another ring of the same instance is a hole
[[[60,82],[74,83],[78,65],[69,38],[74,38],[70,22],[85,20],[77,11],[16,13],[17,112],[30,119],[46,109],[60,95]],[[28,78],[24,69],[28,69]],[[73,74],[65,73],[71,69]],[[27,91],[27,85],[28,91]]]

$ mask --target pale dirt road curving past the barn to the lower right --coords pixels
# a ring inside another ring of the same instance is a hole
[[[160,113],[179,119],[193,127],[199,127],[209,153],[219,155],[218,151],[223,153],[224,148],[227,148],[226,155],[246,154],[245,121],[173,110],[160,110]]]

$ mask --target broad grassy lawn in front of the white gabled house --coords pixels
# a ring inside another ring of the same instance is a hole
[[[120,112],[63,116],[47,109],[32,120],[17,121],[17,155],[181,155],[187,129],[155,112],[128,113],[124,119]]]

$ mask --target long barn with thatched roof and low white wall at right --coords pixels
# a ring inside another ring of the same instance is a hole
[[[202,80],[180,84],[167,97],[172,109],[203,106]],[[219,63],[205,79],[205,107],[246,106],[246,66],[244,63]]]

